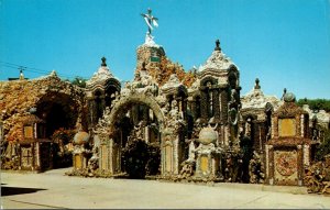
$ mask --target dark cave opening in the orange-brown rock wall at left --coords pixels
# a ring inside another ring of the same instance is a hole
[[[45,136],[53,141],[53,167],[73,165],[72,140],[78,120],[78,103],[69,95],[48,92],[36,103],[36,115],[45,121]]]

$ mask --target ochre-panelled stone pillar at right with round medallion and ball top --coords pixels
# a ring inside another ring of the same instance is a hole
[[[304,185],[311,162],[308,128],[308,113],[295,103],[293,93],[285,93],[284,104],[272,114],[272,139],[265,146],[267,184]]]

